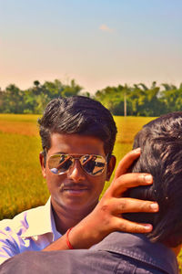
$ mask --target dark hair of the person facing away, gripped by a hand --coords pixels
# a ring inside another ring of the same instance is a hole
[[[129,196],[157,201],[158,213],[127,214],[132,221],[151,223],[147,237],[168,247],[182,243],[182,112],[150,121],[136,134],[134,148],[141,155],[132,172],[153,175],[154,183],[129,191]]]

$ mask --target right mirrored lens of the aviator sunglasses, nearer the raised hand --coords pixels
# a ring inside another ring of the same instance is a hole
[[[87,174],[100,175],[103,173],[106,160],[100,155],[84,155],[80,158],[80,163]]]

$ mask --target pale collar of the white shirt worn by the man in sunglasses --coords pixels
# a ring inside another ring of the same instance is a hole
[[[45,205],[30,209],[25,214],[28,228],[22,237],[35,237],[47,233],[52,234],[53,241],[61,237],[61,234],[56,230],[51,197],[49,197]]]

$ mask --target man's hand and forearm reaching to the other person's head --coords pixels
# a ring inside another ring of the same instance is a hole
[[[100,202],[91,214],[86,216],[69,234],[74,248],[90,248],[113,231],[147,233],[152,230],[149,224],[137,224],[122,217],[128,212],[157,212],[154,202],[140,201],[122,196],[130,187],[152,184],[149,174],[127,174],[128,168],[139,156],[138,149],[127,153],[116,168],[113,182],[107,188]],[[43,251],[68,249],[66,235],[60,237]]]

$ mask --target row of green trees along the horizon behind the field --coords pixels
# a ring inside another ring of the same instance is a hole
[[[159,116],[171,111],[181,111],[182,84],[179,87],[154,81],[150,87],[143,83],[133,86],[118,85],[97,90],[94,95],[83,92],[83,88],[72,79],[68,84],[59,79],[45,81],[41,84],[34,81],[33,87],[20,90],[10,84],[0,90],[1,113],[42,113],[45,105],[57,97],[84,95],[99,100],[114,115]]]

